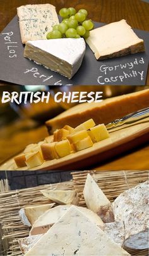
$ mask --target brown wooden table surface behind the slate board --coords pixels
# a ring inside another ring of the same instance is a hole
[[[85,8],[95,22],[110,23],[124,18],[134,29],[149,30],[149,4],[141,0],[0,0],[0,31],[16,15],[16,7],[44,3],[54,4],[57,12],[70,5],[76,10]],[[149,72],[146,84],[149,84]]]

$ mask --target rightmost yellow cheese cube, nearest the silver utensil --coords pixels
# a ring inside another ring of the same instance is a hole
[[[103,139],[109,138],[109,132],[104,124],[99,124],[90,129],[89,132],[90,137],[92,138],[93,142],[102,141]]]

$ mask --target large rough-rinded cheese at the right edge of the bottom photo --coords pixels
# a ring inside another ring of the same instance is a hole
[[[125,226],[125,245],[135,249],[148,248],[148,181],[124,191],[113,203],[116,221]]]

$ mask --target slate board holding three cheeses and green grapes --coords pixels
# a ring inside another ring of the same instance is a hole
[[[1,80],[20,85],[145,85],[148,32],[131,29],[126,20],[92,22],[82,9],[63,8],[59,15],[51,4],[17,8],[0,35]]]

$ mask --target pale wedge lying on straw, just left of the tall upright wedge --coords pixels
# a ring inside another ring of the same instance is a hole
[[[78,205],[79,197],[74,190],[40,190],[40,192],[59,205]]]

